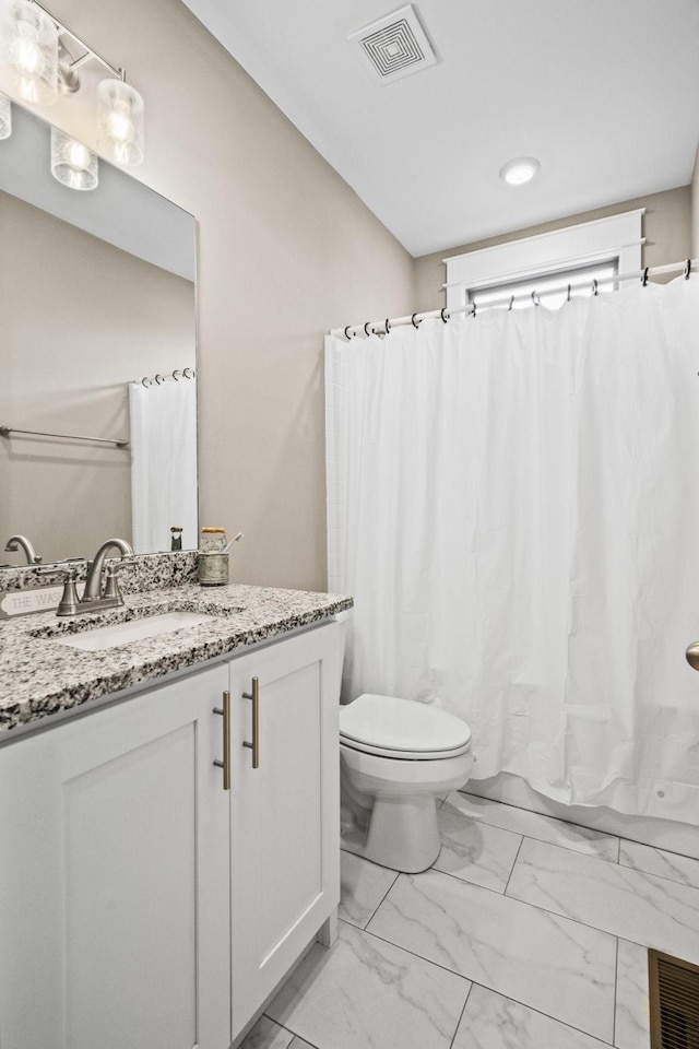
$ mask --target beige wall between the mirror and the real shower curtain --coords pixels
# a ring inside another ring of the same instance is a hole
[[[51,10],[127,68],[135,174],[200,223],[202,523],[245,532],[233,579],[322,589],[322,338],[410,309],[413,260],[177,0]]]

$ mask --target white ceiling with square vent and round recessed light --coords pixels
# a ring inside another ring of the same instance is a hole
[[[185,2],[414,256],[691,179],[699,0],[416,0],[438,61],[386,83],[347,37],[402,0]]]

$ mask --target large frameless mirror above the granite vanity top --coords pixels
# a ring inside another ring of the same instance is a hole
[[[67,188],[50,174],[49,126],[12,114],[0,141],[0,565],[26,562],[4,551],[15,533],[44,564],[91,557],[112,535],[170,550],[170,527],[194,547],[196,221],[102,160],[96,189]]]

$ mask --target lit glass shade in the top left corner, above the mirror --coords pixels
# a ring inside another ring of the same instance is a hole
[[[58,98],[58,30],[29,0],[12,0],[3,19],[2,64],[13,71],[22,98],[50,106]]]

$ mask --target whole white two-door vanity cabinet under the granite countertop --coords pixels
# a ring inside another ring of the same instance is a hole
[[[341,638],[331,622],[0,749],[2,1049],[228,1049],[246,1028],[337,905]]]

